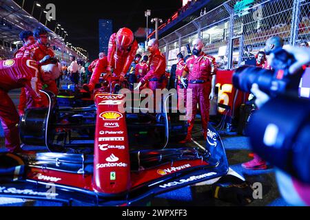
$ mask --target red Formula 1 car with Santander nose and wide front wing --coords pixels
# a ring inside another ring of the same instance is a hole
[[[155,195],[226,175],[220,136],[209,125],[205,149],[169,148],[187,128],[178,113],[120,111],[125,96],[98,89],[94,105],[26,111],[21,140],[42,153],[0,155],[0,197],[71,206],[141,206]],[[173,138],[172,138],[173,137]]]

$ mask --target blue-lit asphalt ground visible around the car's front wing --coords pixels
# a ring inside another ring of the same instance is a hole
[[[10,92],[14,104],[19,102],[19,90]],[[193,131],[194,142],[186,146],[205,146],[205,141],[200,133],[200,121],[196,121]],[[248,137],[243,137],[231,133],[222,137],[226,149],[230,170],[238,173],[251,183],[262,184],[262,199],[256,199],[247,206],[289,206],[281,197],[276,184],[273,168],[267,170],[246,170],[242,168],[243,162],[249,161],[248,154],[251,153]],[[3,131],[0,126],[0,153],[5,152]],[[23,199],[8,199],[0,197],[0,206],[59,206],[59,203],[47,201],[26,201]],[[151,201],[151,206],[236,206],[219,199],[214,199],[211,195],[211,186],[205,183],[196,184],[180,188],[162,195],[156,196]]]

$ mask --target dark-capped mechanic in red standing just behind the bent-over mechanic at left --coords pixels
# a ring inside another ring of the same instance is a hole
[[[34,61],[37,61],[37,64],[40,66],[50,64],[51,59],[54,58],[54,52],[52,48],[48,47],[48,32],[44,28],[36,28],[34,29],[34,37],[37,39],[37,42],[30,47],[25,49],[23,57],[31,58]],[[49,91],[52,91],[53,94],[58,94],[58,88],[55,80],[50,80],[46,83],[45,88]],[[32,108],[36,106],[36,100],[33,100],[30,96],[28,89],[25,89],[25,94],[21,93],[19,98],[19,114],[23,115],[25,110],[25,103],[27,108]],[[48,102],[45,100],[45,104]]]

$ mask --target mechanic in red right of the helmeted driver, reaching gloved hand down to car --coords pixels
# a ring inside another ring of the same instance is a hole
[[[149,82],[149,89],[155,94],[156,89],[163,89],[165,73],[166,73],[166,58],[158,49],[159,42],[152,39],[148,43],[148,50],[151,53],[149,56],[149,72],[140,80],[135,89],[139,89],[141,85]]]

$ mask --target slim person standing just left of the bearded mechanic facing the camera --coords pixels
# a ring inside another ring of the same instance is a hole
[[[180,106],[180,102],[185,103],[186,102],[186,88],[184,85],[180,82],[180,78],[182,77],[182,74],[185,69],[185,62],[183,54],[180,53],[176,56],[178,58],[178,63],[176,64],[176,91],[178,93],[178,107]],[[185,105],[183,105],[185,106]]]

